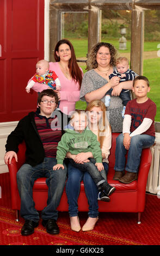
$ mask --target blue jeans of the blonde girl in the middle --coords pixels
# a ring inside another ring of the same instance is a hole
[[[105,169],[101,171],[101,175],[107,181],[106,176],[108,172],[108,163],[103,162],[103,166]],[[94,180],[88,172],[83,172],[82,170],[73,167],[71,163],[69,163],[67,170],[68,179],[66,182],[66,194],[70,217],[78,215],[78,197],[81,188],[81,181],[83,180],[85,194],[89,204],[88,215],[89,217],[96,218],[99,215],[99,205],[97,201],[99,191]]]

